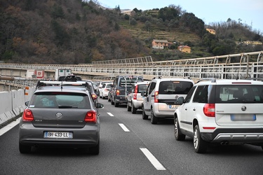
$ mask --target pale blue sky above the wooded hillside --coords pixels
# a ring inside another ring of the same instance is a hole
[[[101,6],[133,10],[164,8],[171,4],[180,6],[187,13],[209,25],[214,22],[227,22],[227,19],[240,21],[252,26],[252,30],[263,34],[263,0],[97,0]]]

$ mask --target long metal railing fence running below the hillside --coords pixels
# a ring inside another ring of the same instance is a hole
[[[93,62],[93,64],[0,64],[2,69],[72,69],[73,73],[92,75],[97,79],[112,78],[117,75],[140,75],[150,80],[154,76],[190,78],[262,78],[263,51],[245,52],[216,57],[180,59],[152,62],[151,57],[138,57],[110,61]],[[252,62],[252,58],[255,60]],[[231,63],[231,59],[238,59]],[[101,78],[99,78],[99,76]]]

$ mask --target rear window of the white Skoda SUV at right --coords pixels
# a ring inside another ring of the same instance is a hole
[[[216,103],[263,103],[263,85],[217,85]]]

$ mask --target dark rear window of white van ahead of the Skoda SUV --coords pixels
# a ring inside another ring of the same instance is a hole
[[[188,81],[161,81],[159,94],[187,94],[193,87],[193,83]]]

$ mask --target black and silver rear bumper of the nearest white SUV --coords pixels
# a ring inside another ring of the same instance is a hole
[[[202,132],[201,137],[203,140],[211,143],[221,143],[227,141],[229,143],[263,144],[263,128],[221,128],[211,133]]]

